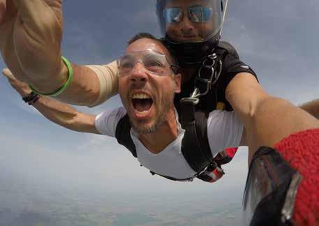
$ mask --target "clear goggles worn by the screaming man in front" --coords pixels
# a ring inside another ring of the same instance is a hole
[[[130,52],[124,54],[117,60],[117,68],[119,68],[119,77],[130,75],[136,63],[141,63],[142,66],[153,75],[172,75],[176,74],[178,66],[169,63],[165,54],[154,50],[144,50],[139,52]]]

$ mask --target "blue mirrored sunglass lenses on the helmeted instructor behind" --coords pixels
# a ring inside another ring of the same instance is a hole
[[[163,10],[165,22],[168,24],[177,24],[183,20],[184,12],[181,8],[172,7]],[[188,7],[188,18],[191,22],[206,23],[212,18],[213,10],[208,6],[190,6]]]

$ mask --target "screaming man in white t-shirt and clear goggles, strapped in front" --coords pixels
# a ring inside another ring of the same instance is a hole
[[[205,122],[201,130],[205,130],[209,146],[206,154],[210,156],[197,169],[196,159],[189,153],[200,155],[200,150],[191,149],[189,131],[182,128],[183,121],[174,107],[174,96],[180,92],[181,84],[181,75],[175,73],[175,60],[151,35],[136,36],[130,43],[117,63],[124,107],[98,116],[77,112],[67,104],[34,93],[30,96],[27,84],[16,80],[8,70],[4,75],[22,98],[47,119],[71,130],[117,138],[151,172],[178,181],[192,181],[195,177],[216,181],[222,173],[218,161],[223,160],[222,153],[218,153],[239,146],[242,123],[235,112],[216,110],[207,118],[196,115],[196,119]]]

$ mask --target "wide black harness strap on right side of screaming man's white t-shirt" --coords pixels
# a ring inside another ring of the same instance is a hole
[[[195,172],[202,172],[212,163],[212,152],[207,139],[207,114],[195,113],[195,105],[183,99],[180,112],[181,127],[185,130],[181,153]]]

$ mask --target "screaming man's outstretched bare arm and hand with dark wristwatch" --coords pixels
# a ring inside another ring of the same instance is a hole
[[[3,70],[3,75],[8,78],[10,85],[13,86],[22,98],[31,93],[29,86],[15,79],[10,73],[10,70]],[[33,106],[43,114],[45,118],[60,126],[78,132],[100,134],[98,130],[96,130],[94,115],[78,112],[70,105],[43,96],[40,96]]]

